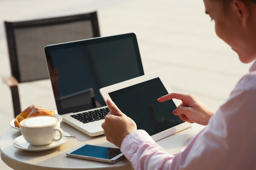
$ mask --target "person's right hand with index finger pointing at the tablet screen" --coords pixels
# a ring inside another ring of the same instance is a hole
[[[182,103],[173,111],[174,115],[181,120],[189,123],[198,123],[207,125],[210,117],[215,113],[195,96],[190,94],[171,93],[157,99],[159,102],[165,102],[170,99],[179,99]]]

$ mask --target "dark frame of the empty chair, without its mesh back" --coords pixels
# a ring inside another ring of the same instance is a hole
[[[96,11],[87,13],[87,14],[54,17],[54,18],[47,18],[47,19],[40,19],[40,20],[29,20],[29,21],[20,21],[20,22],[4,21],[12,76],[4,77],[3,82],[5,82],[11,89],[15,117],[21,112],[20,98],[19,98],[19,92],[18,92],[18,83],[20,82],[20,71],[18,68],[16,41],[15,41],[15,35],[14,35],[15,28],[50,26],[50,25],[58,25],[61,23],[72,23],[72,22],[81,21],[81,20],[92,21],[93,37],[100,37],[99,24],[98,24]],[[46,79],[49,79],[49,77]]]

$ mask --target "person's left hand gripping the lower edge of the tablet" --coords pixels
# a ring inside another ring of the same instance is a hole
[[[105,116],[105,122],[102,123],[106,139],[121,147],[123,139],[130,133],[137,130],[135,122],[122,113],[111,99],[107,99],[107,105],[110,112]]]

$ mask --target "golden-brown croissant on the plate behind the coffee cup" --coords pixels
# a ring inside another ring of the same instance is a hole
[[[21,112],[18,116],[16,116],[14,125],[15,127],[20,127],[20,122],[23,119],[32,117],[32,116],[41,116],[41,115],[52,115],[54,116],[54,111],[47,111],[46,109],[41,108],[37,105],[30,105],[23,112]]]

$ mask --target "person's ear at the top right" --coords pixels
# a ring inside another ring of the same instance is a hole
[[[239,17],[241,20],[242,26],[245,27],[250,16],[250,11],[247,4],[245,4],[243,0],[233,0],[232,6],[237,14],[237,17]]]

